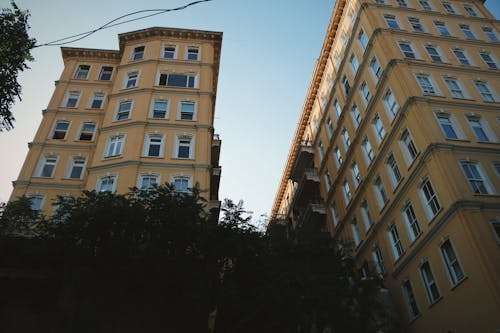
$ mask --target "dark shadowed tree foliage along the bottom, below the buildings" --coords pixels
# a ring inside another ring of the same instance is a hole
[[[47,331],[375,331],[377,280],[358,279],[352,258],[322,233],[285,237],[272,225],[262,234],[230,200],[221,222],[207,223],[198,190],[169,185],[56,204],[45,218],[21,198],[0,219],[0,268],[37,268],[57,295],[30,293],[36,304],[46,297],[44,315],[32,317]],[[29,219],[31,238],[13,238]],[[11,305],[0,302],[0,319]]]

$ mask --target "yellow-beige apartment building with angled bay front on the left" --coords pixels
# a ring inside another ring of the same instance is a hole
[[[196,185],[218,212],[214,108],[222,33],[149,28],[119,50],[63,47],[64,70],[11,199],[52,212],[57,195]]]

